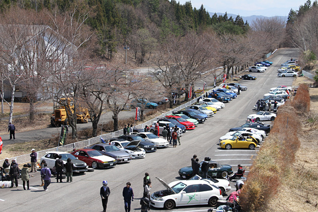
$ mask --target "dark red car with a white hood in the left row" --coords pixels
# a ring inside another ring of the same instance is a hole
[[[103,155],[95,149],[78,149],[71,154],[94,169],[114,167],[117,163],[113,157]]]

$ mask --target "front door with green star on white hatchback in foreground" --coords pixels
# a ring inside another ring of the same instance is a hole
[[[180,205],[200,204],[199,184],[188,185],[180,193]]]

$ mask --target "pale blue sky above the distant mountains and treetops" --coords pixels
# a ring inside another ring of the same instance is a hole
[[[178,2],[178,0],[176,0]],[[192,7],[204,8],[211,13],[231,13],[240,16],[288,16],[290,9],[298,10],[306,0],[179,0],[180,4],[191,2]],[[311,1],[312,3],[313,1]]]

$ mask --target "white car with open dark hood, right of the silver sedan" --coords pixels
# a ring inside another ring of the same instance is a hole
[[[111,144],[129,153],[133,159],[144,158],[146,156],[146,151],[143,148],[138,147],[139,143],[140,141],[129,142],[124,139],[111,141]]]

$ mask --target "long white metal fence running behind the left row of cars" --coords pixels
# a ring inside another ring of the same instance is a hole
[[[211,92],[211,90],[208,90],[207,92]],[[199,97],[200,96],[198,96],[197,98],[199,98]],[[151,120],[149,120],[149,121],[147,121],[145,123],[136,125],[135,128],[144,128],[146,125],[150,126],[154,121],[157,121],[157,118],[165,117],[168,114],[172,114],[173,111],[179,111],[181,109],[184,109],[184,108],[190,106],[191,104],[195,103],[197,101],[197,98],[192,99],[191,101],[188,101],[185,104],[182,104],[182,105],[178,106],[177,108],[175,108],[175,109],[173,109],[171,111],[168,111],[167,113],[162,114],[162,115],[160,115],[160,116],[158,116],[156,118],[153,118],[153,119],[151,119]],[[95,143],[99,143],[100,142],[100,137],[102,137],[104,140],[109,140],[109,139],[111,139],[113,137],[118,137],[118,136],[120,136],[122,134],[124,134],[123,130],[118,130],[118,131],[115,131],[115,132],[112,132],[112,133],[99,135],[99,136],[90,138],[88,140],[78,141],[78,142],[67,144],[67,145],[64,145],[64,146],[57,146],[57,147],[54,147],[54,148],[37,151],[37,160],[39,160],[42,156],[44,156],[46,154],[46,152],[48,152],[48,151],[72,151],[74,148],[79,149],[79,148],[84,148],[84,147],[93,145]],[[9,163],[10,164],[11,164],[12,160],[15,160],[16,163],[18,163],[18,164],[24,164],[24,163],[30,162],[31,157],[30,157],[30,154],[23,154],[23,155],[11,157],[11,158],[9,158]],[[4,161],[5,160],[0,160],[0,166],[2,166]]]

